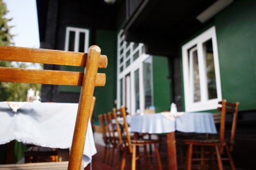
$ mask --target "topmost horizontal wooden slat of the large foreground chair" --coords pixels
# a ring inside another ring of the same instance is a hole
[[[52,65],[67,65],[84,67],[86,53],[65,52],[60,50],[31,49],[17,46],[0,46],[0,60],[46,63]],[[100,56],[99,68],[106,68],[108,58]]]

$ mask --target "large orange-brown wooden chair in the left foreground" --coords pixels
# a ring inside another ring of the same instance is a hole
[[[68,169],[81,168],[94,87],[105,86],[106,75],[97,73],[97,71],[98,68],[106,68],[107,58],[100,53],[101,49],[96,45],[90,46],[88,53],[0,46],[0,60],[3,61],[34,62],[86,68],[84,73],[80,73],[75,71],[0,67],[1,82],[81,86]]]

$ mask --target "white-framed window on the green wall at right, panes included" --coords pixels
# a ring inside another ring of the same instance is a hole
[[[217,108],[221,100],[215,27],[182,46],[185,111]]]

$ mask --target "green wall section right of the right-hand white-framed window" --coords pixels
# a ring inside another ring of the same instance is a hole
[[[222,98],[256,109],[256,1],[235,1],[215,18]]]

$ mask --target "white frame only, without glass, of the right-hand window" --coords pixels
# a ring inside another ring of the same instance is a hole
[[[217,98],[208,99],[207,91],[207,76],[205,71],[205,61],[203,54],[203,43],[209,39],[212,39],[213,45],[213,59],[214,59],[214,69],[216,78],[216,88],[217,88]],[[198,62],[199,62],[199,75],[200,75],[200,95],[201,101],[193,102],[193,83],[189,82],[192,79],[189,75],[189,56],[188,49],[193,46],[197,48]],[[185,111],[186,112],[196,112],[196,111],[207,111],[210,109],[216,109],[217,103],[222,99],[221,95],[221,82],[220,82],[220,67],[218,62],[218,49],[217,49],[217,39],[216,39],[216,29],[215,27],[209,28],[207,31],[197,36],[195,39],[187,42],[182,46],[182,58],[183,58],[183,78],[184,78],[184,97],[185,97]]]

